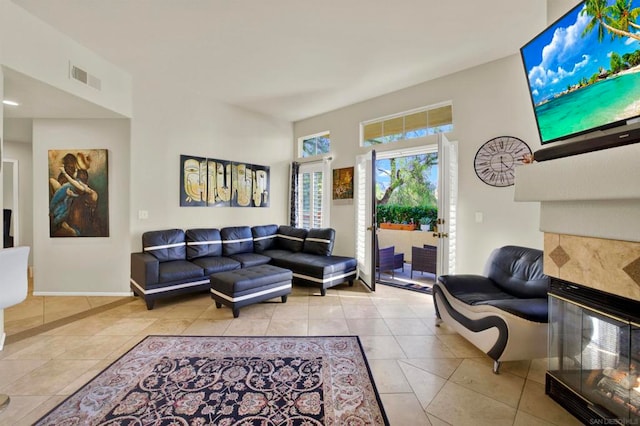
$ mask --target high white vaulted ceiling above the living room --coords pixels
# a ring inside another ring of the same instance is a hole
[[[516,54],[546,22],[544,0],[13,1],[134,85],[289,121]]]

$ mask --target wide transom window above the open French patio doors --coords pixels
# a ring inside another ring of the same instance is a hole
[[[361,126],[362,146],[422,138],[453,130],[453,108],[450,103],[431,105],[366,121]]]

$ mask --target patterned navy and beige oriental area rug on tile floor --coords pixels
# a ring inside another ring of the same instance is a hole
[[[149,336],[37,425],[388,425],[357,336]]]

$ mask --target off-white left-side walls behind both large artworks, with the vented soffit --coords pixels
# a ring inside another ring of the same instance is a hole
[[[100,77],[103,90],[69,80],[69,61]],[[129,254],[140,249],[146,230],[287,223],[290,122],[184,92],[179,81],[175,87],[153,86],[147,76],[124,73],[9,0],[0,0],[0,65],[123,116],[134,115],[130,123],[34,120],[26,138],[33,140],[33,151],[25,194],[33,200],[29,210],[37,212],[32,220],[37,294],[128,293]],[[0,68],[0,82],[1,76]],[[0,104],[0,117],[1,112]],[[30,124],[15,124],[8,135],[22,141]],[[3,125],[0,120],[0,131]],[[49,238],[47,150],[64,148],[109,149],[109,238]],[[180,154],[270,166],[270,207],[179,207]],[[139,210],[147,210],[149,219],[139,220]]]

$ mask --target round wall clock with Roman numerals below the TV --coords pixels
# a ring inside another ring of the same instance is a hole
[[[499,136],[485,142],[473,160],[476,175],[491,186],[511,186],[515,179],[516,165],[531,155],[531,148],[513,136]],[[525,157],[527,156],[527,157]]]

